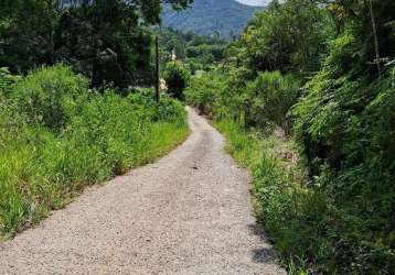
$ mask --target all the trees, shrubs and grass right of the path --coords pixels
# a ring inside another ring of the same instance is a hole
[[[273,1],[186,100],[254,175],[291,274],[395,273],[395,6]]]

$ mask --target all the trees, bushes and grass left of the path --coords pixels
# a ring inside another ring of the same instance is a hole
[[[162,2],[0,2],[0,235],[186,138],[183,105],[150,88]]]

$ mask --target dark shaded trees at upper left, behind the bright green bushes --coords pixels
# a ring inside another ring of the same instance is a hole
[[[0,67],[25,73],[65,62],[93,87],[148,81],[151,38],[162,3],[192,0],[4,0],[0,3]]]

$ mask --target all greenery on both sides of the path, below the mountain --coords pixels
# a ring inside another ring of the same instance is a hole
[[[232,41],[160,26],[191,3],[0,2],[0,234],[182,143],[189,105],[289,274],[394,274],[395,1],[274,0]]]

